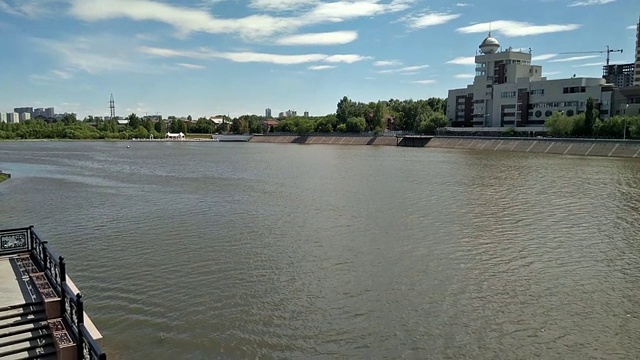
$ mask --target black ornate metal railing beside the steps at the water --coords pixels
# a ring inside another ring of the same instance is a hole
[[[31,253],[35,265],[43,269],[53,291],[60,298],[60,316],[67,323],[69,334],[76,341],[78,359],[106,360],[107,355],[84,325],[84,303],[81,293],[67,284],[66,266],[62,256],[51,249],[33,226],[0,230],[0,255]]]

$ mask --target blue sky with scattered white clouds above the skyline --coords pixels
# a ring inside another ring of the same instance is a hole
[[[549,78],[632,62],[637,0],[0,0],[0,111],[164,116],[334,112],[446,97],[489,26]]]

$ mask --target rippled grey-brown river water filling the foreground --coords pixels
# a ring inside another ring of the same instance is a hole
[[[640,358],[640,161],[5,142],[112,359]]]

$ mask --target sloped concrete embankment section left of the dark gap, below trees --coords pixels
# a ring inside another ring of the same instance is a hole
[[[264,135],[254,136],[254,143],[274,144],[323,144],[323,145],[385,145],[396,146],[393,136],[331,136],[331,135]]]

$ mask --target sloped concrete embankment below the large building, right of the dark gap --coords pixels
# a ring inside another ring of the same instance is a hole
[[[426,147],[476,151],[515,151],[539,154],[640,157],[640,141],[436,137]]]

